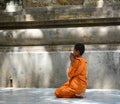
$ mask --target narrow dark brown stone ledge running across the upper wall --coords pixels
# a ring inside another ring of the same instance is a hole
[[[65,19],[48,21],[0,22],[0,29],[68,28],[91,26],[118,26],[120,18]]]

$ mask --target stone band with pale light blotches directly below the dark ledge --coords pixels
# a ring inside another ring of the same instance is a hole
[[[1,30],[1,46],[120,44],[120,26]],[[97,48],[97,47],[96,47]]]

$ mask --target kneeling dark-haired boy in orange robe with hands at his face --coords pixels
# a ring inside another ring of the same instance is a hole
[[[83,98],[87,88],[87,61],[82,57],[85,46],[77,43],[70,54],[71,65],[68,70],[68,81],[55,90],[58,98]]]

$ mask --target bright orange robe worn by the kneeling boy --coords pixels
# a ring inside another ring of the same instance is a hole
[[[87,61],[76,58],[68,70],[68,81],[55,90],[58,98],[74,98],[75,94],[85,93],[87,88]]]

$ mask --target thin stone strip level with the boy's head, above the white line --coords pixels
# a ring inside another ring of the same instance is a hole
[[[0,46],[0,52],[51,52],[73,51],[74,45],[45,45],[45,46]],[[119,44],[85,44],[86,51],[117,51]]]

